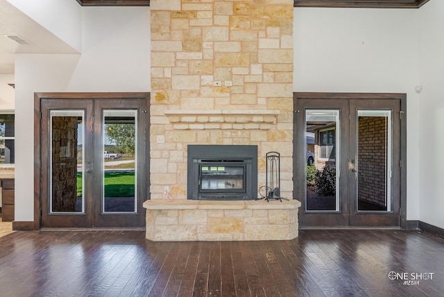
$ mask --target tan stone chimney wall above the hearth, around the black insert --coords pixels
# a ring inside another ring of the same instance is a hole
[[[258,187],[278,151],[293,197],[292,30],[293,0],[151,0],[151,198],[187,197],[187,144],[257,145]]]

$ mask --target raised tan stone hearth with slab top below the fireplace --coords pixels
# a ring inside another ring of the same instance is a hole
[[[290,240],[298,237],[300,202],[145,201],[152,241]]]

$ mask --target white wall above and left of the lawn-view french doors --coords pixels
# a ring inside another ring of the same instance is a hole
[[[149,24],[149,8],[83,8],[81,55],[16,55],[15,220],[34,219],[34,92],[149,92]]]

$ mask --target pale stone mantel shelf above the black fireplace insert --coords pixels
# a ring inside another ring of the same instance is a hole
[[[165,110],[175,129],[270,129],[280,110]]]

